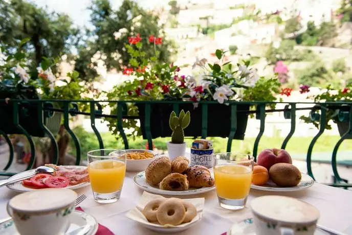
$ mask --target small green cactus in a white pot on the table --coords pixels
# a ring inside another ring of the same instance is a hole
[[[188,127],[191,121],[189,111],[181,110],[180,115],[177,116],[174,111],[170,114],[169,125],[172,130],[171,141],[167,143],[167,152],[170,160],[175,157],[185,156],[187,143],[184,142],[184,129]]]

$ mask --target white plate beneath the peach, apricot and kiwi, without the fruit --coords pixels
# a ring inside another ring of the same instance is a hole
[[[302,179],[296,186],[293,187],[279,187],[274,182],[269,180],[264,185],[255,185],[252,183],[251,189],[254,190],[262,190],[262,191],[273,191],[273,192],[292,192],[292,191],[300,191],[311,187],[314,184],[314,180],[311,176],[301,173]]]

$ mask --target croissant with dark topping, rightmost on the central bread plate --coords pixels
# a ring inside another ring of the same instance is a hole
[[[200,165],[189,167],[185,173],[190,187],[211,187],[215,184],[208,168]]]

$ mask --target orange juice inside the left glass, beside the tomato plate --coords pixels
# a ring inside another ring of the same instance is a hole
[[[89,163],[89,178],[95,193],[114,193],[122,189],[126,165],[117,160],[97,160]]]

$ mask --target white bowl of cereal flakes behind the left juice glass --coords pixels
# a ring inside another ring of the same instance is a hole
[[[159,154],[145,149],[127,149],[126,171],[144,171]]]

